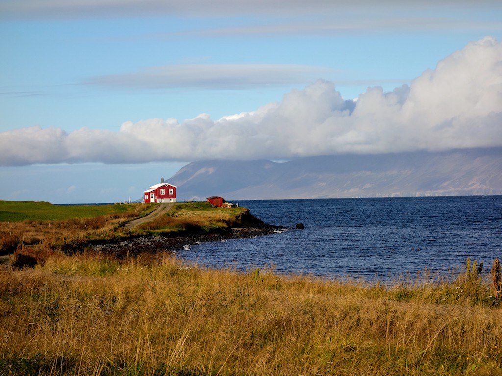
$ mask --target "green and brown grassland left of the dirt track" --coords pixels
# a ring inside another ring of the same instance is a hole
[[[0,201],[0,254],[45,253],[131,236],[120,225],[154,210],[141,204],[58,206]],[[24,248],[24,249],[23,249]]]

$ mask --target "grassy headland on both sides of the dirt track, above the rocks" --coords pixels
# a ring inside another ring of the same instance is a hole
[[[157,207],[156,204],[57,206],[45,202],[0,201],[0,255],[14,252],[43,262],[52,251],[80,251],[103,242],[224,232],[250,217],[245,208],[179,203],[167,215],[153,221],[131,229],[123,226]]]

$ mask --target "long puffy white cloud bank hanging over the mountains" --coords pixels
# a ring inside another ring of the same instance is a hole
[[[126,122],[118,132],[24,128],[0,133],[0,165],[257,159],[502,146],[502,44],[469,43],[411,85],[345,101],[331,82],[256,111]]]

